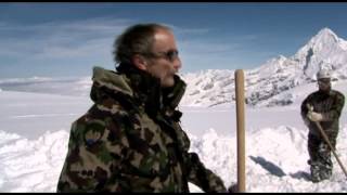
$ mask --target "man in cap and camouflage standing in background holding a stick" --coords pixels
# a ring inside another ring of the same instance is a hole
[[[319,182],[332,176],[331,148],[314,122],[320,122],[332,146],[336,145],[338,123],[345,96],[331,89],[331,75],[322,69],[317,74],[319,90],[309,94],[301,104],[301,117],[309,128],[308,152],[311,180]]]

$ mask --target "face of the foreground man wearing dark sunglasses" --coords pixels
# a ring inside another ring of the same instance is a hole
[[[155,32],[152,57],[147,57],[146,72],[160,79],[162,88],[175,84],[174,76],[181,68],[181,61],[171,31],[159,29]]]

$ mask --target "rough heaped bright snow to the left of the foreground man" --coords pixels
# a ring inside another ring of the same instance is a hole
[[[67,150],[65,130],[47,131],[36,140],[0,131],[1,192],[54,192]]]

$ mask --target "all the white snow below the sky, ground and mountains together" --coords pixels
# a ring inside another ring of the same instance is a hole
[[[322,29],[291,56],[245,70],[247,105],[246,192],[347,192],[336,159],[333,177],[308,180],[308,130],[299,106],[317,90],[314,72],[334,69],[333,89],[347,94],[346,41]],[[313,54],[309,54],[309,50]],[[182,128],[207,168],[226,185],[236,183],[234,70],[208,69],[182,75],[188,89],[179,108]],[[55,192],[67,152],[69,128],[92,105],[90,77],[0,80],[0,192]],[[346,105],[336,153],[347,166]],[[190,183],[192,192],[202,192]]]

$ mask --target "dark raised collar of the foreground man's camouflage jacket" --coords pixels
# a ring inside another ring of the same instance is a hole
[[[174,87],[162,89],[158,78],[131,64],[121,63],[116,69],[117,73],[102,67],[93,68],[91,91],[93,101],[102,96],[100,90],[103,89],[103,91],[128,95],[136,102],[144,104],[146,110],[153,109],[156,113],[163,108],[174,110],[184,94],[187,84],[177,75]]]

